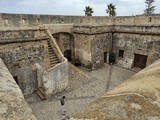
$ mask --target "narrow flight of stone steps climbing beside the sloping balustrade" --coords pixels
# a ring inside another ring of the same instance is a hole
[[[51,47],[51,44],[48,41],[48,53],[49,53],[49,60],[50,60],[50,67],[54,67],[56,64],[59,63],[59,59],[55,54],[54,50]]]

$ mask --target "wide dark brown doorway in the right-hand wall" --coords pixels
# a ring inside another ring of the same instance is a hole
[[[134,55],[134,67],[145,68],[147,63],[147,56],[135,54]]]

